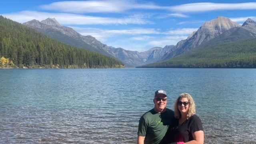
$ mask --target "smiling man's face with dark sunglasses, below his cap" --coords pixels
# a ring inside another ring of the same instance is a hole
[[[162,94],[156,95],[154,98],[154,104],[155,104],[155,110],[157,112],[162,112],[162,110],[164,110],[164,108],[166,108],[167,97]]]

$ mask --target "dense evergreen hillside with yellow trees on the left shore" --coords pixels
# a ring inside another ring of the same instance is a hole
[[[3,16],[0,16],[0,58],[0,67],[124,67],[122,62],[114,58],[63,44]],[[10,62],[3,62],[6,59]]]

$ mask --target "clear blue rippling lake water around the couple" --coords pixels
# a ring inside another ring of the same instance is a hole
[[[256,144],[256,69],[0,69],[0,143],[135,144],[164,89],[190,93],[205,144]]]

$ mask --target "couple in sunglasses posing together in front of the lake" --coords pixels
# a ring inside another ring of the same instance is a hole
[[[203,144],[204,131],[190,94],[181,94],[174,111],[166,108],[167,95],[157,90],[154,108],[141,116],[137,144]]]

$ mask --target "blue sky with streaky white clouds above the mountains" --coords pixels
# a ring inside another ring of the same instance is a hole
[[[256,21],[255,0],[4,0],[0,15],[19,23],[55,18],[115,48],[144,52],[176,45],[218,16]]]

